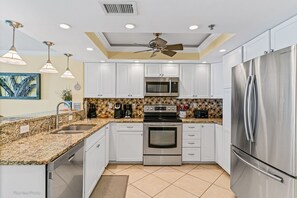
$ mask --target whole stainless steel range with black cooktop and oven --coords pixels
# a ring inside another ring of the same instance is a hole
[[[182,124],[174,105],[144,106],[144,165],[181,165]]]

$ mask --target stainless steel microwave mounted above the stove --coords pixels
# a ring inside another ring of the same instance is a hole
[[[145,96],[179,96],[179,78],[146,77]]]

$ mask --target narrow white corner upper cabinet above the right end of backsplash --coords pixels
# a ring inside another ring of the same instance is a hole
[[[215,63],[211,65],[211,97],[223,98],[223,64]]]

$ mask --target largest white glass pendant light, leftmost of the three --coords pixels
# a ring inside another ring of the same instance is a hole
[[[16,21],[5,21],[8,25],[10,25],[13,29],[13,37],[12,37],[12,46],[10,47],[9,51],[4,54],[2,57],[0,57],[0,62],[2,63],[8,63],[12,65],[27,65],[25,61],[18,55],[16,48],[14,46],[15,41],[15,29],[21,28],[23,25]]]

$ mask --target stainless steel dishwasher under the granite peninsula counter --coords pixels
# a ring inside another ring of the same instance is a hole
[[[84,142],[47,165],[47,198],[83,197]]]

